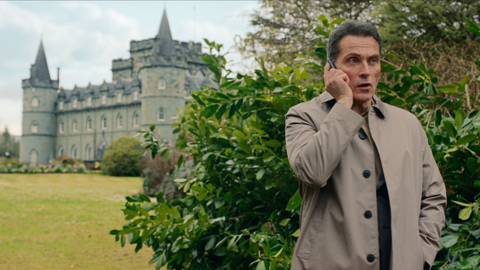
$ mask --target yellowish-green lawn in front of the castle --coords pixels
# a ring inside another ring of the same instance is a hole
[[[153,251],[115,242],[139,177],[0,173],[0,269],[155,269]]]

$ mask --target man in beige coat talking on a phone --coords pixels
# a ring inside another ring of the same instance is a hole
[[[374,95],[380,43],[370,23],[338,25],[326,91],[287,113],[302,198],[293,270],[430,269],[440,248],[445,185],[417,118]]]

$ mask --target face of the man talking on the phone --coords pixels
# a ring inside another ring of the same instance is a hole
[[[353,91],[353,102],[369,102],[377,89],[380,76],[380,49],[371,36],[342,37],[340,53],[335,65],[348,75],[349,86]]]

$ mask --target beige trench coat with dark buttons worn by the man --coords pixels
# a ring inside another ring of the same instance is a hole
[[[391,269],[421,270],[440,248],[444,181],[417,118],[373,100],[368,119],[390,198]],[[359,137],[363,123],[327,92],[287,113],[288,160],[302,198],[293,270],[380,269],[375,163],[370,141]]]

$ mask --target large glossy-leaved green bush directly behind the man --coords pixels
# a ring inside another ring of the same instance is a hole
[[[323,60],[334,21],[321,16],[314,23],[323,36],[315,53]],[[194,100],[173,125],[179,134],[175,146],[195,166],[190,177],[176,180],[187,196],[170,202],[160,193],[155,204],[143,195],[127,197],[122,210],[128,222],[110,233],[122,246],[126,239],[136,244],[135,251],[151,247],[150,263],[156,269],[165,264],[168,269],[289,269],[299,235],[300,195],[285,149],[285,114],[324,91],[322,83],[305,83],[310,76],[305,67],[322,72],[323,64],[297,55],[293,67],[280,63],[268,71],[260,61],[254,77],[231,78],[225,58],[214,53],[221,45],[205,41],[210,54],[203,60],[218,87],[193,93]],[[382,65],[387,82],[379,83],[377,94],[417,115],[449,199],[466,207],[448,205],[444,250],[434,267],[475,268],[480,263],[479,101],[468,93],[467,80],[437,86],[434,70],[423,62],[405,69],[385,61]],[[466,113],[464,100],[474,100]],[[168,155],[153,129],[144,137],[152,155]],[[180,156],[179,166],[182,160]]]

